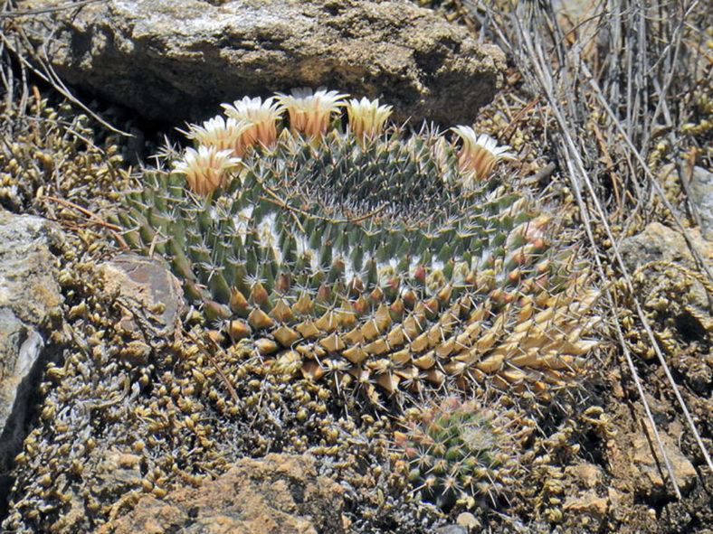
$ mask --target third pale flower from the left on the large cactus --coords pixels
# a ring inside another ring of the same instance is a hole
[[[248,121],[249,125],[242,134],[245,146],[252,146],[260,142],[262,145],[271,146],[277,140],[277,123],[282,120],[283,108],[280,103],[270,97],[262,98],[244,97],[235,100],[233,104],[221,104],[225,115],[237,120]]]

